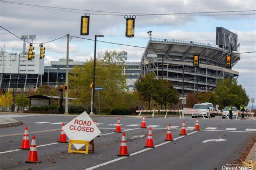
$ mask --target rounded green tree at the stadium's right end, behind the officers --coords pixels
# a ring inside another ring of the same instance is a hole
[[[238,84],[237,80],[231,78],[218,81],[214,96],[220,109],[230,104],[236,107],[240,104],[247,105],[250,101],[245,89]]]

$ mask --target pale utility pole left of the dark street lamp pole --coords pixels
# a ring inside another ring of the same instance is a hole
[[[66,89],[65,89],[65,115],[69,114],[69,34],[66,34]]]

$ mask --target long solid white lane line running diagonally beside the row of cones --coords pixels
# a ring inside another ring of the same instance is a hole
[[[194,131],[194,132],[188,133],[187,136],[190,135],[190,134],[196,133],[196,132],[198,132],[198,131]],[[173,139],[173,140],[177,140],[177,139],[184,138],[184,137],[186,137],[186,136],[180,136],[180,137],[175,138],[175,139]],[[164,143],[161,143],[161,144],[159,144],[159,145],[155,145],[154,147],[158,147],[158,146],[161,146],[161,145],[165,145],[165,144],[170,143],[170,142],[171,142],[171,141],[165,141]],[[130,157],[133,156],[133,155],[136,155],[136,154],[139,154],[139,153],[148,151],[148,150],[152,150],[152,149],[153,149],[152,147],[148,147],[148,148],[145,148],[144,150],[131,153],[131,154],[130,154]],[[96,166],[93,166],[93,167],[90,167],[90,168],[86,168],[85,170],[91,170],[91,169],[95,169],[95,168],[98,168],[98,167],[102,167],[102,166],[104,166],[104,165],[111,164],[112,162],[116,162],[116,161],[119,161],[119,160],[122,160],[122,159],[125,159],[125,158],[128,158],[128,157],[121,157],[121,158],[113,159],[113,160],[111,160],[111,161],[104,162],[103,164],[99,164],[99,165],[96,165]]]

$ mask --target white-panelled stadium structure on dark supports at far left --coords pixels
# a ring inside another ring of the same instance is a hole
[[[0,52],[0,88],[3,91],[16,89],[28,91],[42,85],[44,59],[39,55],[28,60],[28,53]]]

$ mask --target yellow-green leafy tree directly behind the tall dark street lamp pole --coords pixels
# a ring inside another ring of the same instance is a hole
[[[100,90],[100,108],[110,112],[114,108],[124,108],[124,90],[127,89],[123,68],[122,56],[117,51],[105,51],[96,59],[95,87]],[[69,77],[70,91],[73,97],[78,98],[77,103],[90,106],[91,88],[93,80],[93,59],[84,63],[82,67],[76,66]],[[95,107],[98,105],[97,91],[95,93]]]

